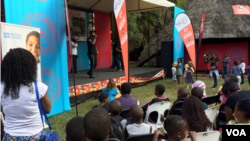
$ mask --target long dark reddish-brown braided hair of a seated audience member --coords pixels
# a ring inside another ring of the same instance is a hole
[[[200,99],[194,96],[186,98],[182,105],[182,117],[188,122],[190,131],[206,132],[213,129],[207,118]]]

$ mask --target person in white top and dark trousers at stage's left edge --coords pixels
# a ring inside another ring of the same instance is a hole
[[[71,39],[71,48],[72,48],[72,60],[73,60],[73,64],[72,64],[72,69],[71,69],[71,72],[72,73],[77,73],[77,40],[76,38],[72,38]],[[73,68],[74,68],[74,72],[73,72]]]

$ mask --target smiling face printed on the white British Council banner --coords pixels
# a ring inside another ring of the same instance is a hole
[[[26,49],[36,58],[37,64],[40,63],[40,33],[37,31],[30,32],[26,37]]]

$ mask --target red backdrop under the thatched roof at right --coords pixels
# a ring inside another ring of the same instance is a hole
[[[198,70],[204,70],[204,61],[203,61],[203,55],[206,51],[210,51],[210,55],[213,53],[216,54],[217,57],[219,57],[220,60],[224,57],[224,53],[228,53],[228,56],[230,57],[230,64],[229,69],[231,66],[233,66],[234,60],[240,60],[241,58],[245,58],[246,66],[248,65],[248,41],[246,42],[238,42],[238,43],[227,43],[227,44],[204,44],[201,45],[200,54],[199,54],[199,61],[198,61]],[[188,61],[190,61],[190,57],[185,50],[184,54],[184,63],[186,64]],[[219,70],[222,70],[222,62],[220,61],[219,64]]]

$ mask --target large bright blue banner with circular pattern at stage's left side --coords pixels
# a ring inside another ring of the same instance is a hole
[[[40,28],[42,82],[48,85],[50,115],[70,110],[63,0],[4,0],[6,23]]]

